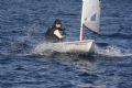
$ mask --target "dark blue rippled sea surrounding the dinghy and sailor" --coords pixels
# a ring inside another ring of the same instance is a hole
[[[81,0],[0,0],[0,88],[132,88],[132,0],[101,0],[95,54],[35,55],[56,18],[79,38]]]

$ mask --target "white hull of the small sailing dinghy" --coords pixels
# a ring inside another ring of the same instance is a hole
[[[95,47],[95,41],[77,41],[77,42],[62,42],[53,43],[53,48],[58,53],[92,53]]]

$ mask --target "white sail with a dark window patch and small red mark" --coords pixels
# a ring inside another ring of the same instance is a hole
[[[100,1],[82,0],[81,26],[99,33],[100,24]]]

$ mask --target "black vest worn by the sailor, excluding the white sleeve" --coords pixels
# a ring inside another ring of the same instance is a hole
[[[54,34],[54,32],[55,32],[56,30],[58,30],[59,32],[62,31],[62,35],[65,34],[65,30],[63,30],[63,29],[56,29],[56,28],[52,26],[52,28],[50,28],[50,29],[46,31],[46,33],[45,33],[45,40],[46,40],[47,42],[53,42],[53,43],[55,43],[55,42],[64,41],[64,38],[59,38],[59,37],[57,37],[57,36]]]

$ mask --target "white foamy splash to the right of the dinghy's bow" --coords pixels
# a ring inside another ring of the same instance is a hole
[[[110,57],[125,57],[125,56],[132,56],[132,53],[130,50],[118,47],[114,45],[108,45],[106,47],[100,47],[98,45],[95,46],[96,54],[102,55],[102,56],[110,56]]]

